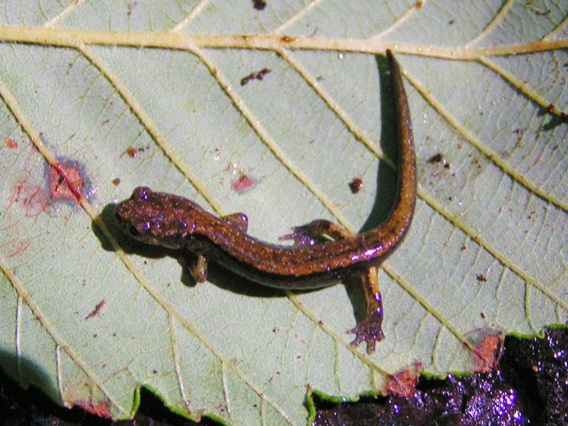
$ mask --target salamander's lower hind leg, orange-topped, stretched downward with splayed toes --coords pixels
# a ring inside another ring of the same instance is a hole
[[[345,282],[348,284],[363,285],[367,309],[365,319],[360,321],[349,332],[355,334],[353,346],[359,346],[363,341],[367,342],[367,353],[375,352],[375,344],[385,338],[382,332],[382,296],[377,279],[377,267],[372,266],[360,275],[351,275]]]

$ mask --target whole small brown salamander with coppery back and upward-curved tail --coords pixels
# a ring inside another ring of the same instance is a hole
[[[136,240],[170,248],[185,247],[195,255],[191,275],[198,282],[207,278],[208,262],[260,284],[282,289],[315,289],[333,284],[358,282],[365,289],[365,319],[350,330],[353,345],[367,342],[375,350],[382,334],[382,298],[377,266],[395,250],[407,233],[416,203],[417,177],[414,139],[400,66],[387,50],[397,117],[397,196],[387,219],[366,233],[352,235],[328,220],[314,220],[294,228],[282,239],[294,245],[264,243],[247,234],[244,213],[218,218],[193,201],[170,193],[135,188],[132,196],[114,209],[119,228]],[[327,238],[326,238],[327,237]],[[331,238],[331,239],[330,239]]]

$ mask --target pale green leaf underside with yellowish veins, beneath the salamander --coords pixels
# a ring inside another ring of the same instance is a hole
[[[309,386],[357,398],[414,363],[473,371],[477,336],[565,324],[567,16],[540,1],[6,4],[4,368],[102,416],[132,416],[144,385],[188,417],[301,424]],[[355,291],[223,272],[195,285],[176,253],[112,224],[144,184],[245,211],[273,243],[314,218],[377,225],[395,181],[386,48],[406,77],[419,201],[379,273],[373,356],[346,334]],[[257,185],[237,193],[242,175]]]

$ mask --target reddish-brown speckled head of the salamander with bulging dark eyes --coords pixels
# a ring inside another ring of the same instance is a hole
[[[132,196],[117,204],[114,219],[125,233],[147,244],[181,248],[195,230],[192,212],[197,204],[180,196],[134,188]]]

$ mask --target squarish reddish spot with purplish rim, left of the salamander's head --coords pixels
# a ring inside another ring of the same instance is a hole
[[[49,196],[52,200],[79,202],[85,179],[77,161],[61,161],[48,172]]]

